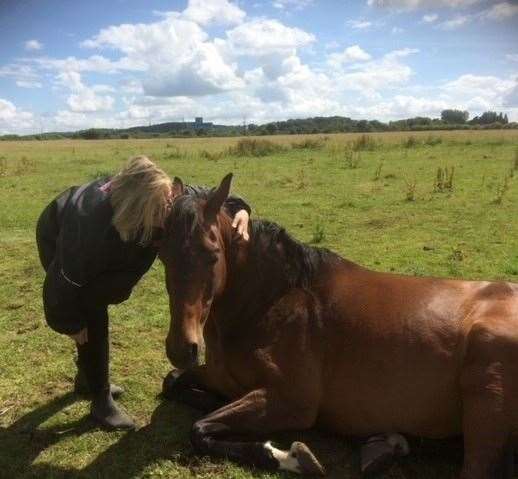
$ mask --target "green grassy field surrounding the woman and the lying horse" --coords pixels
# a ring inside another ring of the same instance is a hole
[[[196,458],[188,441],[196,411],[157,397],[170,369],[158,261],[111,309],[112,378],[140,429],[92,428],[88,403],[70,393],[74,348],[43,318],[35,222],[59,192],[117,172],[131,155],[147,154],[191,184],[216,185],[232,171],[234,192],[255,217],[374,269],[518,282],[518,131],[258,140],[273,146],[239,149],[236,138],[0,142],[0,478],[289,477]],[[320,431],[275,440],[294,438],[314,448],[329,477],[359,477],[358,442]],[[412,447],[383,477],[458,471],[458,441],[414,439]]]

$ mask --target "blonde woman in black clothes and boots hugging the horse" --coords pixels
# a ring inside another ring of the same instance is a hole
[[[207,192],[200,187],[186,191]],[[91,416],[107,428],[135,427],[113,400],[122,389],[108,379],[108,305],[128,299],[151,267],[173,195],[169,176],[138,156],[112,178],[69,188],[38,220],[45,318],[52,329],[75,340],[75,390],[91,395]],[[250,207],[237,197],[225,206],[247,240]]]

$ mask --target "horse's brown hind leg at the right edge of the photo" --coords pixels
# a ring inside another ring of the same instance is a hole
[[[512,478],[510,424],[504,381],[510,364],[502,357],[506,345],[498,334],[476,324],[468,338],[461,377],[464,465],[462,479]],[[507,384],[506,384],[507,383]]]

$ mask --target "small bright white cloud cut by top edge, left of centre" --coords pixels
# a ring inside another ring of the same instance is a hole
[[[241,23],[246,13],[228,0],[189,0],[182,16],[199,25]]]

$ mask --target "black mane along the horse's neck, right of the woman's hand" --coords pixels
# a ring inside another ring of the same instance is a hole
[[[277,280],[285,282],[286,287],[306,288],[324,264],[340,259],[325,248],[297,241],[282,226],[271,221],[252,220],[250,229],[249,252],[256,257],[255,272],[259,282],[269,284]]]

